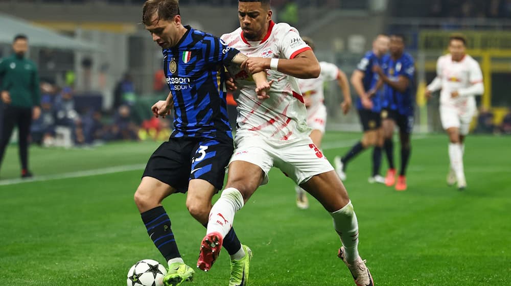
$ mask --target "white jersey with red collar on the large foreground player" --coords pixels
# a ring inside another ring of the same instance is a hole
[[[292,59],[311,50],[295,28],[273,21],[270,21],[268,33],[262,41],[247,41],[241,28],[222,35],[221,39],[248,57]],[[255,83],[246,71],[236,68],[231,73],[241,86],[237,99],[238,132],[254,132],[275,140],[293,140],[309,135],[307,110],[296,78],[267,70],[268,81],[274,80],[268,92],[270,98],[259,100]]]

